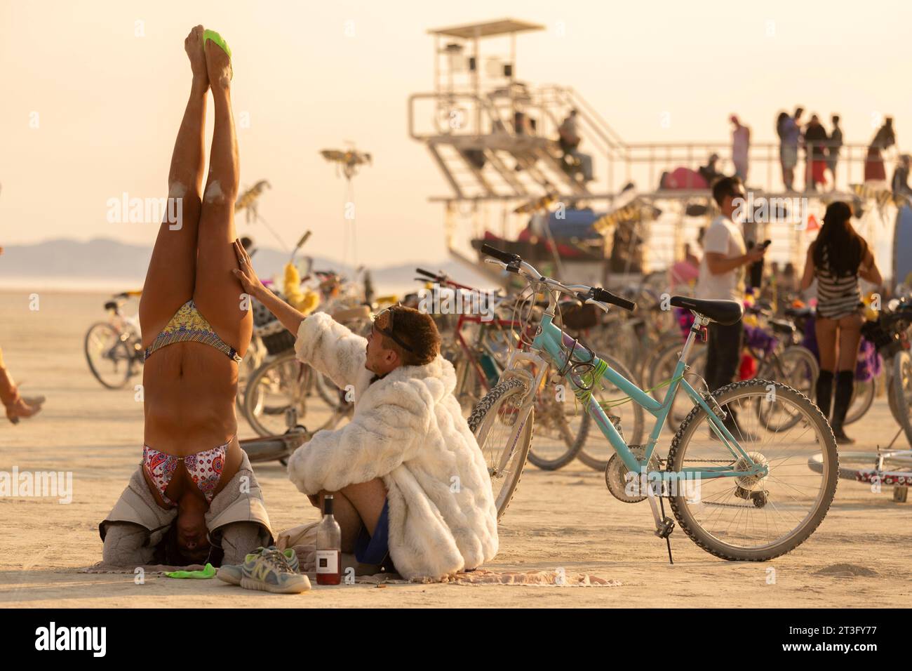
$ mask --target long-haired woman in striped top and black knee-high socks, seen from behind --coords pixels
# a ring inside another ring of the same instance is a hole
[[[826,208],[824,225],[807,250],[801,289],[817,279],[817,348],[820,351],[820,377],[817,379],[817,405],[830,417],[836,442],[854,441],[845,435],[843,422],[852,401],[855,361],[861,342],[861,290],[858,278],[876,285],[883,282],[874,255],[865,239],[852,227],[852,208],[832,203]],[[835,398],[834,396],[835,380]]]

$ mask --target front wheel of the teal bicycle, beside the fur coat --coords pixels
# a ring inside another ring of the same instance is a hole
[[[488,465],[498,520],[513,500],[532,445],[535,410],[528,395],[523,380],[497,383],[469,417],[469,428]]]

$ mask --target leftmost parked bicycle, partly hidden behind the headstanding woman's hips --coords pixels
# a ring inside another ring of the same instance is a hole
[[[122,308],[141,291],[124,291],[105,302],[108,321],[88,327],[83,343],[88,370],[108,389],[122,389],[142,367],[143,351],[138,314],[125,316]]]

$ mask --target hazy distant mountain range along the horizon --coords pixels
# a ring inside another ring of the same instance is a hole
[[[56,239],[36,245],[5,246],[0,256],[0,288],[41,284],[49,288],[139,288],[146,277],[150,246],[128,245],[108,238],[88,242]],[[351,278],[351,267],[325,257],[313,257],[315,270],[335,270]],[[280,275],[288,261],[286,252],[258,247],[254,270],[261,278]],[[455,261],[418,261],[396,266],[370,267],[371,279],[379,292],[418,288],[415,267],[443,270],[466,284],[491,286],[488,278],[473,273]]]

